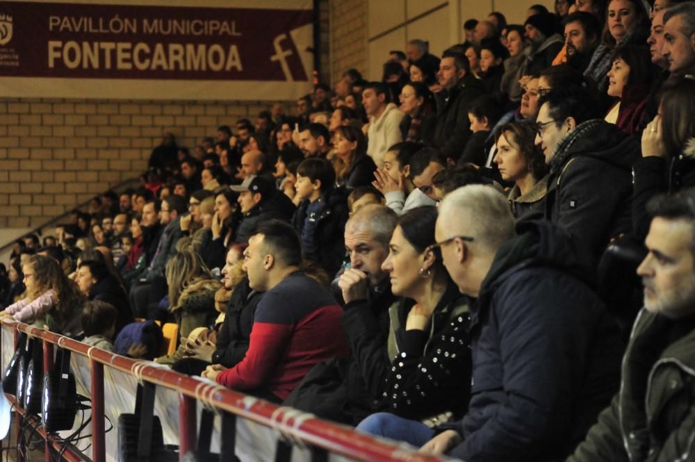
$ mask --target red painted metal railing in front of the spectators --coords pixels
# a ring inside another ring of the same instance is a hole
[[[145,361],[133,360],[102,349],[90,347],[84,343],[44,331],[19,322],[4,320],[4,324],[24,332],[28,336],[41,338],[44,345],[44,372],[53,365],[54,346],[69,349],[76,354],[87,356],[91,370],[92,399],[92,454],[93,462],[106,461],[106,443],[104,436],[104,366],[133,375],[140,381],[154,383],[156,386],[170,388],[179,392],[179,454],[181,459],[190,450],[195,449],[197,424],[195,419],[196,404],[226,411],[237,418],[251,420],[267,427],[278,429],[281,434],[289,436],[306,445],[331,454],[340,454],[355,461],[409,461],[434,462],[441,459],[434,456],[418,454],[399,445],[391,445],[359,434],[349,427],[320,420],[306,414],[297,415],[291,408],[279,407],[261,399],[249,400],[248,395],[235,392],[222,386],[204,383],[172,370],[149,365]],[[0,329],[1,330],[1,329]],[[11,398],[11,397],[10,397]],[[14,403],[14,402],[13,402]],[[23,413],[23,410],[19,410]],[[55,445],[55,436],[39,431],[47,440],[47,461],[49,445]],[[60,443],[62,446],[62,443]],[[65,452],[68,461],[81,460],[76,449]],[[20,461],[21,462],[21,461]]]

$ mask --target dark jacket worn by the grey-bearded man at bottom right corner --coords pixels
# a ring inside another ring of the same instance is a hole
[[[695,457],[693,316],[644,308],[623,359],[623,381],[568,462],[675,462]]]

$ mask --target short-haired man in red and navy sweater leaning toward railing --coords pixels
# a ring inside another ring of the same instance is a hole
[[[203,377],[281,402],[314,365],[350,354],[341,307],[300,271],[301,261],[300,238],[292,226],[270,220],[256,227],[244,265],[250,287],[265,295],[256,308],[249,349],[234,368],[214,364]]]

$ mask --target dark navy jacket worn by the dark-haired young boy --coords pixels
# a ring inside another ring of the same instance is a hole
[[[322,213],[316,217],[316,229],[313,235],[314,255],[311,256],[328,274],[336,274],[345,259],[345,223],[350,215],[347,209],[347,190],[331,188],[322,193],[321,199],[327,204]],[[309,199],[304,199],[292,217],[292,226],[302,234],[306,209]]]

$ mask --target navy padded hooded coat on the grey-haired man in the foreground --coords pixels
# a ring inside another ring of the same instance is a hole
[[[590,286],[587,257],[553,224],[519,222],[471,306],[473,379],[455,424],[466,461],[567,456],[620,381],[619,330]]]

